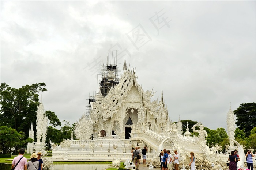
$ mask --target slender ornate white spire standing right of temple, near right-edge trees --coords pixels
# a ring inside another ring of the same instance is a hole
[[[231,104],[229,108],[229,112],[227,112],[227,135],[229,135],[229,139],[235,140],[235,130],[236,130],[236,118],[231,110]],[[234,146],[234,142],[230,140],[230,146]]]

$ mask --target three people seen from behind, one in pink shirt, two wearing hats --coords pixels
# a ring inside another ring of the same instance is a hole
[[[24,149],[19,150],[19,155],[12,160],[12,170],[42,170],[43,160],[41,152],[33,153],[30,156],[30,160],[27,162],[27,158],[23,157],[25,154]]]

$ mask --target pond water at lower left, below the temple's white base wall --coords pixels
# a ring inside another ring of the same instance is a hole
[[[59,164],[53,165],[54,170],[102,170],[110,164]],[[11,164],[0,163],[0,170],[10,170]]]

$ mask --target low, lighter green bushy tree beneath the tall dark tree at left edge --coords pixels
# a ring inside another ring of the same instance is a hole
[[[25,140],[24,137],[22,132],[18,133],[13,128],[0,126],[0,149],[6,154],[11,152],[12,147],[21,147],[33,141],[31,138]]]

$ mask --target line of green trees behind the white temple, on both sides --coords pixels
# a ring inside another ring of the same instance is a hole
[[[21,88],[12,88],[6,83],[0,86],[0,150],[2,153],[10,153],[11,148],[26,146],[28,142],[36,140],[28,138],[31,123],[36,132],[36,111],[39,105],[38,92],[47,91],[45,83],[37,83],[25,85]],[[235,139],[246,148],[256,148],[256,103],[240,104],[236,110],[237,129],[235,131]],[[52,111],[46,111],[45,115],[50,121],[48,127],[46,143],[49,146],[49,140],[54,143],[60,143],[63,139],[70,139],[71,133],[74,131],[75,124],[69,121],[63,121],[63,124]],[[189,131],[197,136],[198,133],[192,131],[191,127],[198,122],[193,120],[181,120],[183,124],[183,133],[185,133],[187,124]],[[57,129],[56,127],[61,127]],[[207,131],[207,145],[209,147],[218,144],[222,146],[222,152],[225,153],[225,145],[229,144],[228,135],[224,128],[211,130],[204,127]],[[73,136],[75,139],[75,137]]]

